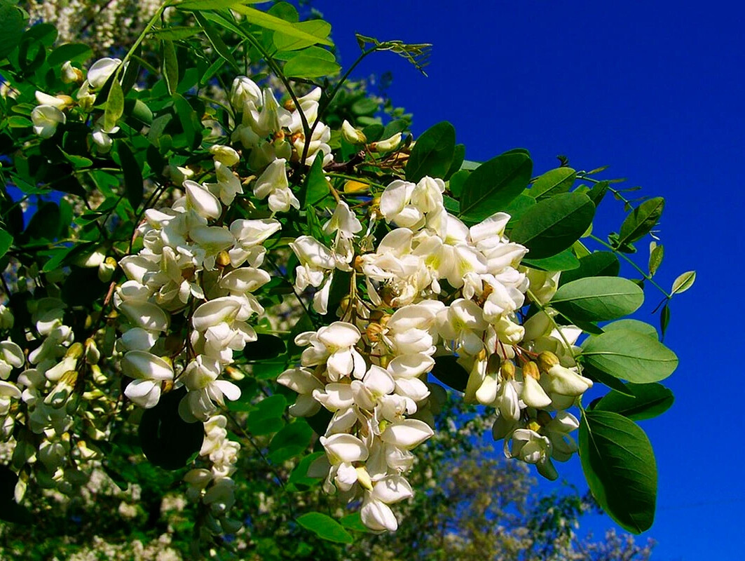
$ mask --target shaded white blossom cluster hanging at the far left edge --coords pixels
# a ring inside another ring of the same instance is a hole
[[[84,345],[74,342],[72,329],[63,323],[64,308],[56,298],[34,302],[31,320],[35,332],[26,334],[33,348],[28,356],[12,340],[0,342],[0,439],[13,449],[10,466],[19,472],[16,501],[21,501],[31,477],[44,488],[72,491],[88,478],[80,469],[80,460],[100,453],[86,443],[86,434],[77,434],[72,427],[77,410],[73,390],[81,363],[100,373],[101,353],[93,340]],[[10,310],[0,305],[0,328],[11,329],[13,323]],[[15,382],[8,379],[12,373],[17,373]],[[83,395],[91,402],[91,410],[96,398]],[[83,411],[83,422],[86,433],[97,440],[103,434],[92,422],[94,414]],[[16,421],[25,428],[14,431]]]

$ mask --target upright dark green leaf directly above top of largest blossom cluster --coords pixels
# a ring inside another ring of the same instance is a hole
[[[406,180],[417,183],[422,177],[443,178],[455,153],[455,129],[448,121],[437,123],[419,136],[406,164]]]

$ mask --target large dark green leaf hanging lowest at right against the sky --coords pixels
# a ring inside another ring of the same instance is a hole
[[[657,467],[644,431],[618,413],[586,411],[580,458],[600,507],[625,530],[648,530],[654,521]]]

